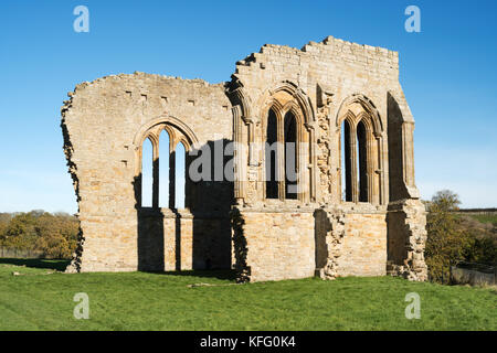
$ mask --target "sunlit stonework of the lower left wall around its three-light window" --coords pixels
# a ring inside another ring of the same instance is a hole
[[[155,124],[180,121],[178,128],[188,127],[199,147],[230,140],[231,104],[224,86],[135,73],[83,83],[68,96],[71,99],[62,108],[62,129],[82,229],[80,248],[70,270],[136,270],[139,263],[150,263],[150,259],[139,259],[138,245],[154,236],[140,238],[145,225],[139,224],[138,217],[137,180],[144,133]],[[205,206],[214,216],[228,220],[232,193],[226,193],[225,186],[225,183],[204,183],[198,194],[200,200],[202,194],[216,194],[218,204],[224,208]],[[171,226],[165,223],[163,229],[169,232]],[[183,228],[192,226],[184,224]],[[187,243],[188,236],[195,235],[184,232]],[[169,244],[168,238],[165,244]],[[171,265],[169,257],[166,265]],[[191,267],[192,260],[186,254],[184,257],[182,268]],[[161,265],[152,267],[161,268]]]

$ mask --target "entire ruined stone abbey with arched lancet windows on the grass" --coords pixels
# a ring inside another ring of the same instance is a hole
[[[67,271],[426,279],[396,52],[266,44],[226,83],[120,74],[68,96],[81,232]]]

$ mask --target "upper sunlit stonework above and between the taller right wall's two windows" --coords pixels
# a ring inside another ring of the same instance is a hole
[[[360,45],[328,36],[320,43],[309,42],[302,50],[265,44],[260,53],[253,53],[236,65],[234,74],[243,86],[256,121],[264,118],[266,99],[271,90],[290,82],[310,99],[316,127],[317,142],[322,157],[317,176],[317,202],[337,203],[340,200],[335,171],[339,164],[339,126],[336,125],[341,104],[352,95],[368,97],[377,108],[384,131],[381,141],[381,159],[384,161],[381,190],[389,188],[388,165],[388,94],[403,107],[404,118],[412,120],[409,106],[399,83],[399,53],[383,47]],[[325,109],[326,108],[326,109]],[[258,125],[255,133],[264,131]],[[258,129],[258,130],[257,130]],[[322,159],[324,158],[324,159]],[[262,169],[257,172],[261,174]],[[262,199],[262,188],[255,193]],[[383,192],[388,203],[388,192]]]

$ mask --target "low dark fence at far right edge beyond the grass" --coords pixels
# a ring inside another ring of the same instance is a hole
[[[496,286],[497,266],[459,263],[451,267],[451,280],[457,285]]]

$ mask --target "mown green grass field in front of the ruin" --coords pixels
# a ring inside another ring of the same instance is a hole
[[[234,285],[228,271],[50,274],[65,265],[0,259],[0,330],[497,330],[491,288],[391,277]],[[77,292],[88,295],[88,320],[73,317]],[[404,315],[409,292],[421,297],[419,320]]]

